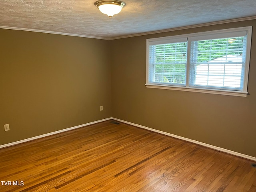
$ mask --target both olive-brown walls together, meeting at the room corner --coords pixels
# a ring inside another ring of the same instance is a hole
[[[246,98],[146,88],[147,38],[242,26],[253,26]],[[0,145],[112,116],[256,157],[254,28],[250,20],[111,41],[0,29]]]

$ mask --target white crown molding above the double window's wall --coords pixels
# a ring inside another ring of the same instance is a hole
[[[205,27],[205,26],[211,26],[211,25],[218,25],[218,24],[225,24],[225,23],[232,23],[232,22],[239,22],[239,21],[247,21],[247,20],[254,20],[254,19],[256,19],[256,16],[243,17],[243,18],[230,19],[230,20],[223,20],[223,21],[216,21],[216,22],[196,24],[196,25],[189,25],[189,26],[184,26],[184,27],[176,27],[176,28],[170,28],[170,29],[158,30],[158,31],[152,31],[152,32],[138,33],[138,34],[132,34],[132,35],[127,35],[127,36],[108,38],[108,40],[115,40],[115,39],[136,37],[136,36],[142,36],[142,35],[150,35],[150,34],[171,32],[171,31],[177,31],[177,30],[184,30],[184,29],[190,29],[190,28]]]

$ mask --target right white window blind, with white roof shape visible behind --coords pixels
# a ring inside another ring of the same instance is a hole
[[[246,56],[244,36],[191,42],[190,86],[242,90]]]

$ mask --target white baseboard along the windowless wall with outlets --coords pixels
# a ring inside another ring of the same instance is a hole
[[[106,118],[106,119],[102,119],[102,120],[98,120],[98,121],[94,121],[94,122],[89,122],[89,123],[86,123],[86,124],[82,124],[82,125],[78,125],[78,126],[74,126],[74,127],[54,131],[54,132],[51,132],[51,133],[46,133],[46,134],[43,134],[43,135],[27,138],[27,139],[24,139],[24,140],[20,140],[20,141],[8,143],[8,144],[0,145],[0,148],[9,147],[9,146],[16,145],[16,144],[21,144],[21,143],[24,143],[24,142],[32,141],[32,140],[43,138],[43,137],[47,137],[47,136],[50,136],[50,135],[55,135],[55,134],[66,132],[66,131],[70,131],[70,130],[73,130],[73,129],[77,129],[77,128],[80,128],[80,127],[92,125],[92,124],[99,123],[99,122],[106,121],[106,120],[110,120],[110,119],[112,119],[112,118],[110,117],[110,118]]]

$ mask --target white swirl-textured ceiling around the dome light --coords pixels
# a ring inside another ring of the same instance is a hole
[[[0,0],[0,28],[25,28],[96,38],[256,16],[256,0],[124,0],[111,19],[96,0]]]

